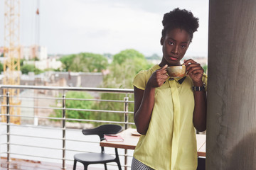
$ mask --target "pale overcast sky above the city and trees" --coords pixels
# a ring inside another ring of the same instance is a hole
[[[21,1],[21,45],[36,43],[36,0]],[[161,56],[164,13],[186,8],[199,18],[187,56],[207,57],[206,0],[39,0],[39,43],[49,54],[118,52],[133,48]],[[4,0],[0,1],[0,46],[4,45]]]

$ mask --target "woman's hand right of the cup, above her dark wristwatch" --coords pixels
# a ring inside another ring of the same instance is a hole
[[[201,64],[195,62],[192,59],[184,60],[184,65],[186,65],[186,72],[193,80],[194,86],[203,86],[203,67],[201,67]]]

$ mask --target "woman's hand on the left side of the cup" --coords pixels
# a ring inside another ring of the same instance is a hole
[[[157,69],[149,78],[147,85],[153,88],[163,85],[166,79],[168,79],[166,67],[167,64],[161,67],[160,69]]]

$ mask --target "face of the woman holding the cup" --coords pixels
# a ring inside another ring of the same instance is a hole
[[[165,37],[161,38],[163,45],[163,60],[166,64],[181,65],[181,59],[184,57],[190,43],[191,37],[186,30],[174,28],[169,30]]]

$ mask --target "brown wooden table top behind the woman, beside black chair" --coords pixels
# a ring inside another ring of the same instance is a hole
[[[135,135],[132,135],[135,134]],[[139,136],[136,135],[136,129],[127,129],[119,133],[124,138],[124,141],[113,141],[107,142],[106,140],[102,140],[100,142],[101,147],[116,147],[122,149],[135,149],[138,141]],[[197,150],[198,156],[206,157],[206,135],[198,135],[196,134],[196,141],[197,141]]]

